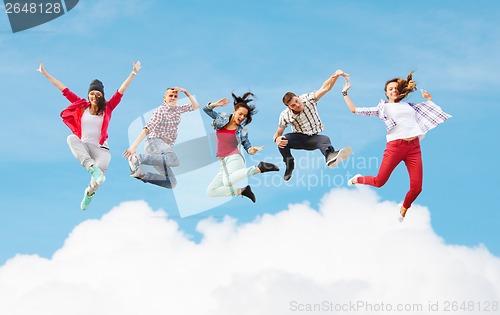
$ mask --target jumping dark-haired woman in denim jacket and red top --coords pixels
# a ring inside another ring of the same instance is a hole
[[[255,195],[249,185],[243,188],[233,188],[233,185],[247,177],[258,173],[279,171],[271,163],[260,162],[257,166],[245,168],[245,160],[240,153],[240,146],[248,154],[254,155],[264,147],[253,147],[248,140],[248,132],[243,126],[252,122],[255,106],[249,104],[253,96],[247,92],[242,97],[232,94],[234,99],[234,112],[232,114],[217,113],[213,109],[229,104],[229,99],[223,98],[215,103],[208,103],[203,111],[213,118],[212,126],[216,130],[217,153],[221,161],[221,168],[208,186],[207,193],[210,197],[245,196],[255,202]]]

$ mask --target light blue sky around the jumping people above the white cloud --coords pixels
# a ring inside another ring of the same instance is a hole
[[[317,89],[338,68],[351,74],[350,94],[358,106],[375,105],[386,80],[416,70],[419,88],[453,115],[422,143],[424,191],[417,203],[430,208],[432,226],[447,243],[484,244],[499,256],[499,18],[495,0],[89,0],[61,18],[13,34],[2,13],[0,264],[17,253],[49,257],[76,225],[122,201],[143,199],[178,218],[173,194],[130,178],[121,159],[129,124],[158,106],[166,87],[185,87],[201,104],[251,90],[259,113],[248,127],[250,139],[265,146],[255,160],[279,161],[272,135],[282,95]],[[87,212],[79,203],[88,174],[71,155],[69,129],[59,118],[67,102],[35,71],[40,59],[81,96],[94,78],[110,96],[130,73],[131,60],[143,64],[113,115],[108,179]],[[353,147],[354,164],[334,170],[309,164],[296,177],[337,176],[343,187],[349,175],[378,169],[356,163],[381,158],[384,124],[352,115],[341,86],[339,81],[320,101],[320,114],[333,144]],[[203,119],[208,130],[209,119]],[[319,152],[296,156],[321,161]],[[315,206],[336,187],[279,181],[266,187],[263,180],[253,179],[257,204],[235,198],[203,216],[178,218],[178,224],[196,239],[194,227],[202,217],[231,215],[245,222],[289,203]],[[407,187],[401,165],[377,192],[400,201]]]

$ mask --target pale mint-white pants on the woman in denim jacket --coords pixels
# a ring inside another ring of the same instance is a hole
[[[240,154],[226,156],[221,159],[219,173],[208,186],[207,194],[210,197],[236,196],[237,188],[233,185],[255,174],[257,167],[245,168],[245,161]]]

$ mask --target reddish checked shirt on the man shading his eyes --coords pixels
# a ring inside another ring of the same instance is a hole
[[[155,110],[144,128],[148,129],[150,138],[161,138],[169,146],[173,146],[177,139],[181,114],[193,110],[191,104],[171,107],[163,103]]]

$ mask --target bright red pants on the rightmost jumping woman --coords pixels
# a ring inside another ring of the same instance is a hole
[[[382,187],[391,176],[392,171],[401,161],[405,162],[408,174],[410,175],[410,190],[406,193],[403,207],[406,209],[422,191],[422,152],[420,151],[420,141],[418,138],[407,140],[394,140],[387,142],[384,151],[384,158],[377,176],[358,177],[359,184]]]

